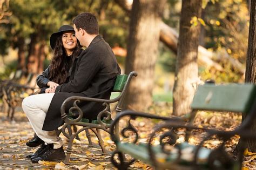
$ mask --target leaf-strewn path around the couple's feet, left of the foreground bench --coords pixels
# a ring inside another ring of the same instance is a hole
[[[36,151],[36,149],[25,145],[25,142],[32,137],[33,130],[24,113],[15,113],[15,121],[9,121],[6,118],[6,114],[0,112],[0,169],[54,168],[57,163],[41,162],[41,164],[32,164],[30,159],[25,158],[27,154]],[[67,147],[65,137],[61,137],[64,139],[65,150]],[[76,140],[73,145],[74,153],[71,154],[71,164],[69,166],[58,164],[58,167],[68,169],[116,169],[111,164],[110,154],[100,154],[101,150],[97,145],[88,147],[85,134],[82,133],[79,137],[81,141]],[[109,151],[113,150],[113,144],[109,135],[103,134],[103,139],[106,149]],[[97,141],[93,142],[97,143]]]

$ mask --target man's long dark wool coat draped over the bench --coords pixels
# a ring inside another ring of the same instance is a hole
[[[69,82],[56,88],[44,120],[45,131],[56,130],[63,125],[60,106],[66,98],[84,96],[109,99],[120,68],[111,47],[98,35],[75,59],[69,74]],[[71,107],[72,103],[70,102],[68,107]],[[87,119],[96,119],[97,114],[104,109],[102,103],[82,101],[79,106],[82,108],[83,117]]]

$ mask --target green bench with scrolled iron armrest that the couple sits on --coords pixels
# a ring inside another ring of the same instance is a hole
[[[100,130],[110,133],[109,127],[113,121],[111,118],[110,104],[117,103],[117,106],[116,106],[117,114],[122,111],[123,100],[125,97],[127,87],[129,86],[129,83],[132,77],[136,77],[136,76],[137,76],[137,73],[134,71],[131,72],[129,75],[123,74],[123,75],[117,76],[117,79],[112,91],[112,92],[120,92],[120,94],[116,98],[107,100],[107,99],[72,96],[67,98],[63,102],[62,107],[60,108],[60,111],[62,113],[62,119],[64,119],[65,121],[64,125],[62,126],[62,133],[65,135],[66,138],[68,138],[68,141],[69,141],[68,148],[66,149],[65,164],[69,164],[70,154],[72,153],[73,140],[74,138],[77,137],[77,135],[80,132],[83,132],[83,131],[86,132],[86,137],[88,138],[89,145],[92,145],[90,133],[88,131],[89,129],[93,133],[95,133],[96,137],[98,138],[99,145],[102,148],[103,154],[106,153],[106,150],[104,147],[104,141],[102,140],[102,137],[100,135]],[[69,113],[65,113],[65,108],[69,101],[74,101],[73,107],[69,109]],[[97,115],[97,120],[90,121],[89,119],[83,118],[83,112],[78,107],[78,103],[80,101],[93,101],[93,102],[103,103],[103,105],[105,106],[105,109]],[[75,119],[72,118],[74,111],[77,111],[79,113],[79,116]],[[71,126],[75,126],[75,125],[82,126],[82,128],[80,128],[78,131],[73,132],[71,129]]]

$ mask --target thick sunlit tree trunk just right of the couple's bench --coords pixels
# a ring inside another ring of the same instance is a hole
[[[126,108],[142,111],[152,104],[154,67],[158,54],[160,13],[165,0],[134,0],[127,45],[125,73],[137,71],[125,98]]]

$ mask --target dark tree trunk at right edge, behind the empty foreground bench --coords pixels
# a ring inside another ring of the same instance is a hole
[[[246,57],[246,71],[245,71],[245,82],[246,83],[256,83],[256,30],[255,30],[255,7],[256,1],[251,1],[251,11],[250,11],[250,28],[249,28],[249,36],[248,36],[248,49],[247,49],[247,57]],[[245,114],[242,115],[242,120],[245,119]],[[256,119],[254,119],[254,123],[251,125],[251,132],[256,135]],[[256,140],[248,140],[248,149],[251,152],[256,152]]]

